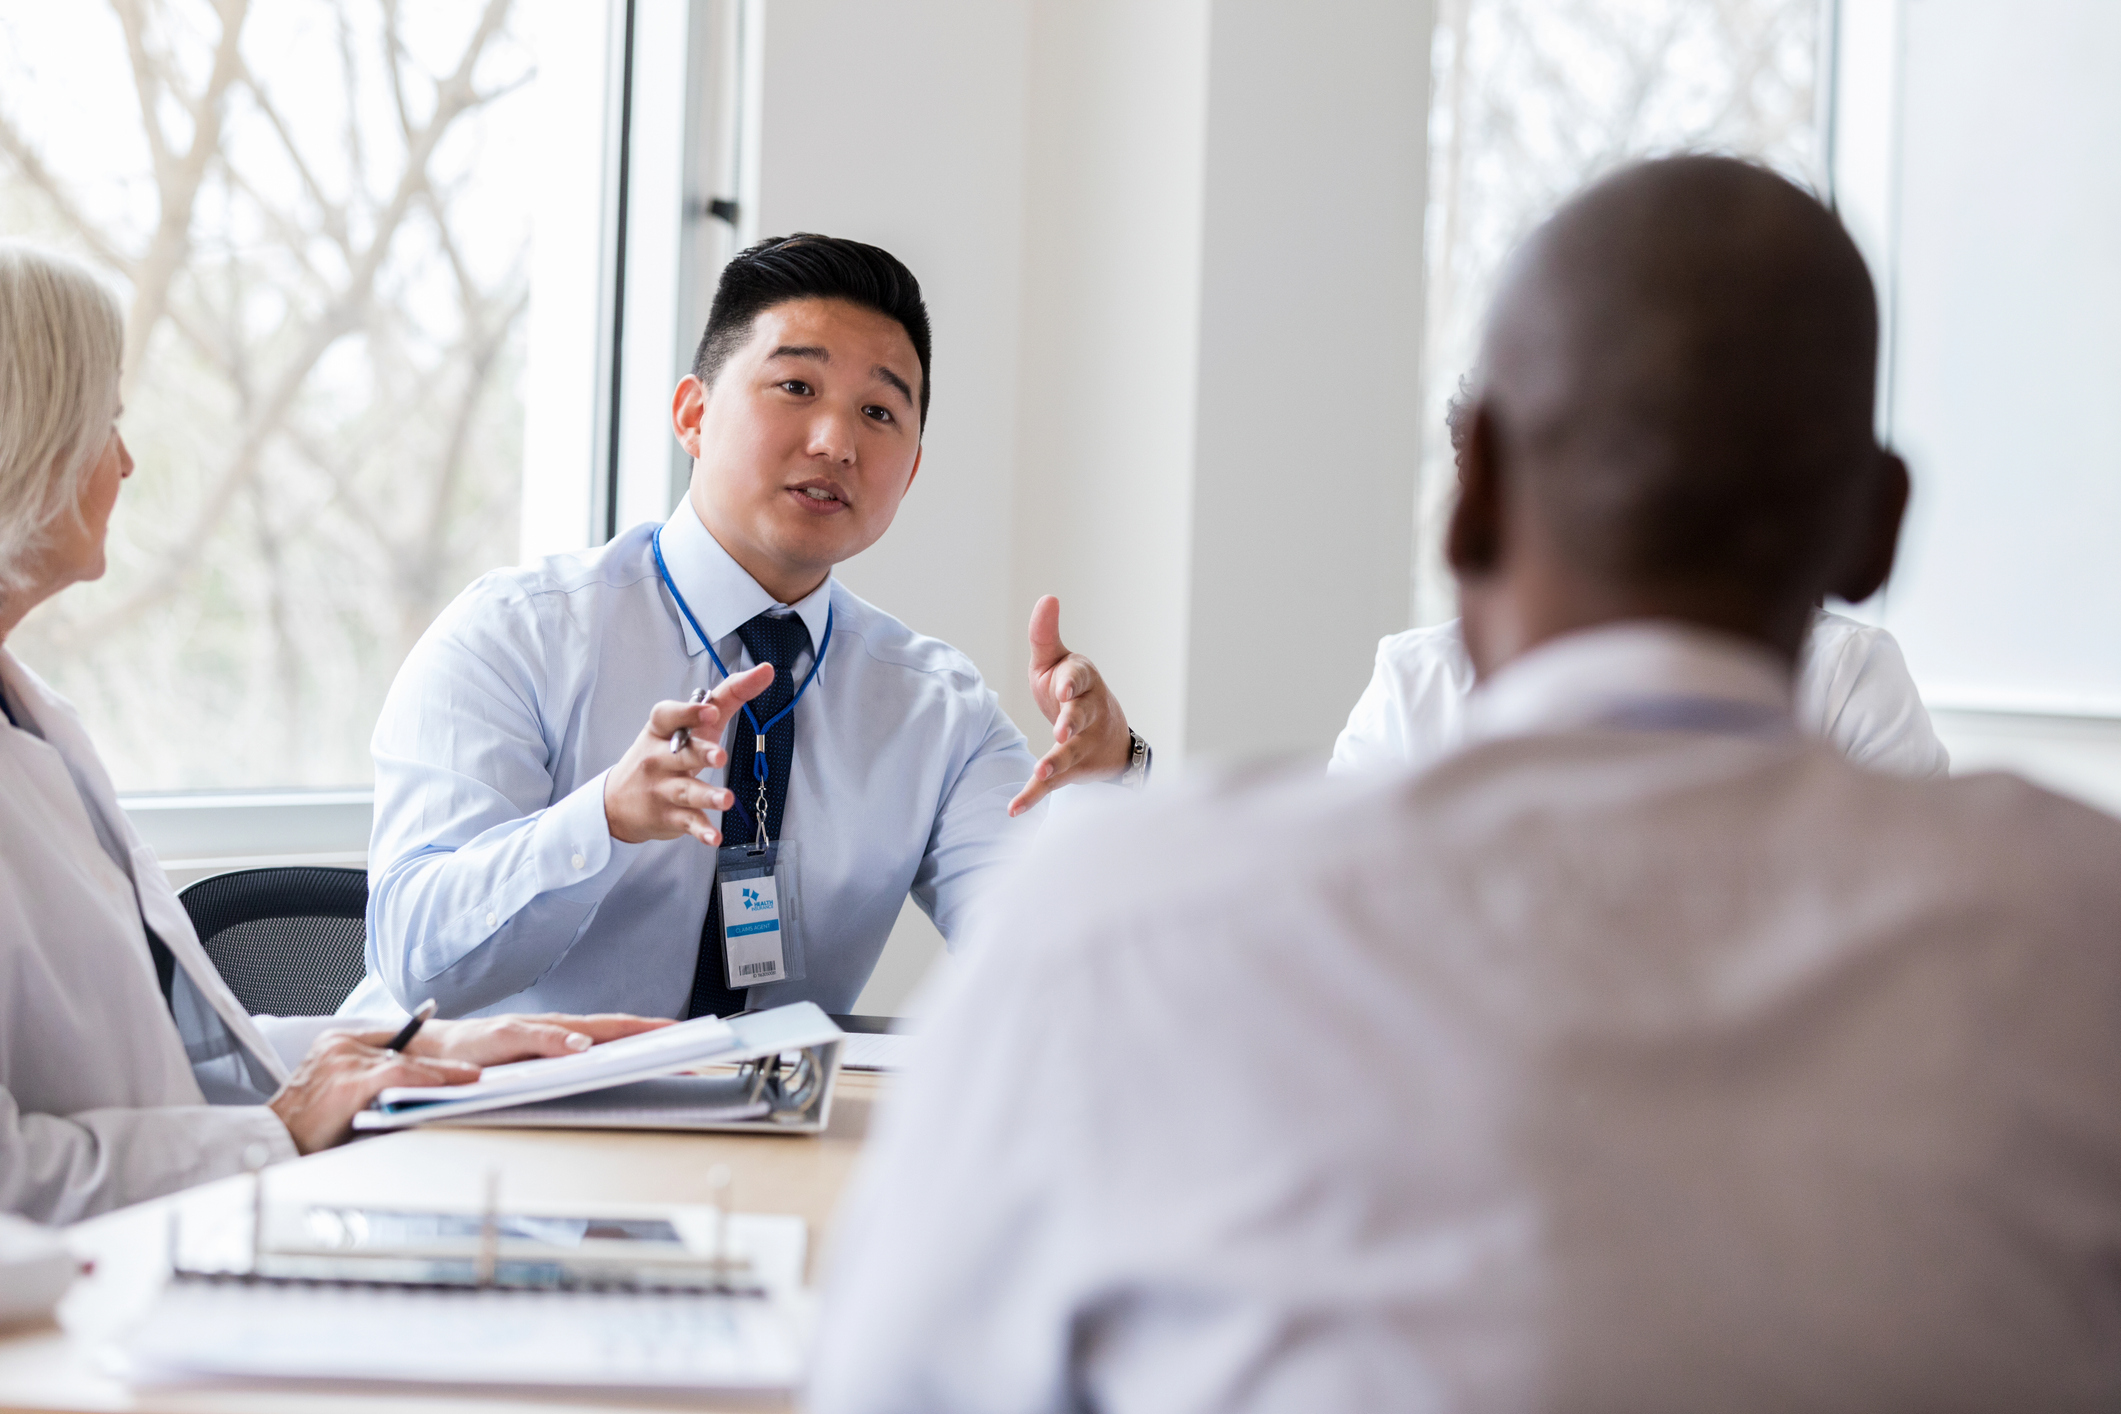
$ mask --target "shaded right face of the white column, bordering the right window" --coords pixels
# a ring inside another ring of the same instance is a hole
[[[1215,2],[1190,757],[1324,761],[1406,628],[1432,21],[1421,0]]]

